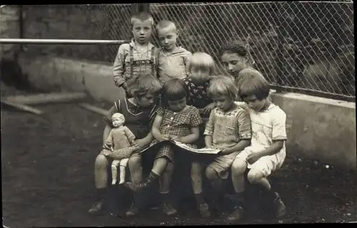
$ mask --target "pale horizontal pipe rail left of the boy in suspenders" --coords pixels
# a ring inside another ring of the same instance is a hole
[[[0,44],[125,44],[129,40],[101,39],[0,39]]]

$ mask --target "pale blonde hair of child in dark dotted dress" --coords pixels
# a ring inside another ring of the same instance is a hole
[[[208,76],[216,74],[216,63],[214,62],[212,56],[207,53],[193,53],[190,61],[188,61],[188,72],[191,72],[193,66],[195,66],[197,69],[208,69]]]

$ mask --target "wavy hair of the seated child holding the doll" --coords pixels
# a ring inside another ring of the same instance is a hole
[[[134,97],[146,94],[158,94],[162,89],[159,79],[151,74],[139,74],[129,86],[129,93]]]

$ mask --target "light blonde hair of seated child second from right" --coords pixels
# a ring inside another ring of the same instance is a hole
[[[234,79],[231,76],[218,75],[214,76],[207,89],[208,96],[228,96],[229,98],[236,100],[238,95],[238,89],[234,84]]]

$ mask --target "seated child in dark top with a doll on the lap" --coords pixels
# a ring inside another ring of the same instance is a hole
[[[150,129],[156,114],[157,106],[155,100],[160,90],[161,83],[156,76],[151,74],[139,74],[131,88],[129,88],[133,97],[126,97],[115,101],[111,109],[109,109],[108,115],[104,117],[104,121],[106,122],[106,127],[103,133],[104,142],[108,139],[109,132],[111,132],[111,129],[114,127],[111,122],[111,117],[115,113],[124,115],[126,127],[128,127],[136,137],[134,146],[139,147],[139,149],[131,154],[131,157],[129,158],[130,176],[131,181],[134,183],[141,182],[143,175],[142,164],[147,162],[146,159],[149,159],[145,154],[143,154],[144,156],[139,154],[139,151],[148,147],[154,140]],[[107,168],[113,159],[117,159],[114,152],[107,156],[101,153],[96,157],[94,163],[96,201],[91,209],[89,209],[89,213],[100,212],[104,208],[104,199],[109,195],[108,190],[113,189],[107,187]],[[116,196],[116,194],[113,195]],[[134,199],[130,209],[126,212],[126,216],[128,217],[139,214],[140,209],[144,207],[144,202],[146,201],[145,198],[141,197],[139,194],[134,194]],[[111,200],[111,202],[114,202],[114,200]]]

